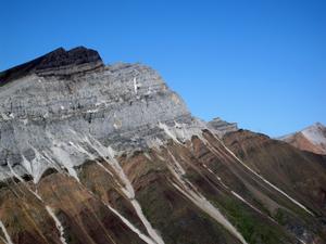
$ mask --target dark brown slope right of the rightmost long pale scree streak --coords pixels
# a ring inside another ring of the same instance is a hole
[[[248,167],[283,189],[324,221],[326,157],[302,152],[285,142],[248,130],[230,132],[223,141]],[[277,218],[279,221],[287,219],[281,209]],[[296,222],[286,226],[302,232]]]

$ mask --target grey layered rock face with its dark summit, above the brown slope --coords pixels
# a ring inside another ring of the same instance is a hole
[[[162,125],[198,126],[156,72],[104,66],[84,48],[59,49],[0,78],[0,179],[37,181],[49,167],[74,175],[87,152],[158,143],[167,138]]]

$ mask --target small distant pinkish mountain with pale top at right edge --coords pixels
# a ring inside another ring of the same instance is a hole
[[[279,139],[300,150],[326,155],[326,127],[321,123]]]

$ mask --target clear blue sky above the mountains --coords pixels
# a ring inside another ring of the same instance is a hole
[[[58,47],[160,72],[191,112],[272,137],[326,124],[325,0],[1,0],[0,70]]]

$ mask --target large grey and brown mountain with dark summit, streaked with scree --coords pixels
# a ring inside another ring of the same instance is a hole
[[[0,244],[323,244],[325,165],[84,47],[0,74]]]

